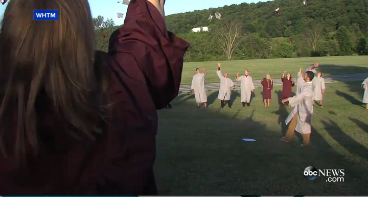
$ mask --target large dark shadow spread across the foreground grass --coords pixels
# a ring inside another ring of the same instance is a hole
[[[367,177],[354,180],[366,168],[346,162],[347,158],[337,153],[314,128],[311,146],[300,147],[294,141],[280,141],[279,133],[275,132],[279,129],[260,121],[265,118],[260,115],[262,112],[240,105],[232,109],[198,110],[192,107],[194,102],[159,111],[155,175],[160,195],[368,192]],[[245,142],[242,138],[257,141]],[[349,139],[340,143],[362,149]],[[345,180],[349,181],[327,183],[324,177],[308,181],[302,173],[310,165],[317,169],[346,169]]]

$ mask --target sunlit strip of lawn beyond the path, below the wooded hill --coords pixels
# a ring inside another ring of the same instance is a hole
[[[290,72],[292,76],[302,67],[304,70],[309,65],[318,62],[320,71],[325,75],[335,75],[342,73],[368,72],[368,56],[339,56],[339,57],[313,57],[313,58],[284,58],[284,59],[261,59],[261,60],[234,60],[222,61],[221,69],[228,72],[235,80],[236,73],[244,75],[244,70],[249,70],[249,75],[254,80],[263,79],[267,73],[275,79],[280,78],[284,70]],[[218,83],[216,75],[217,62],[188,62],[184,63],[181,84],[191,84],[196,68],[205,67],[209,75],[205,83]]]

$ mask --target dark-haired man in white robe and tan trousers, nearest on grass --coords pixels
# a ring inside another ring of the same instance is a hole
[[[309,145],[310,133],[311,133],[311,118],[313,114],[313,88],[312,80],[314,73],[307,71],[304,75],[304,82],[300,87],[300,93],[296,96],[282,100],[282,103],[289,102],[291,108],[289,116],[285,120],[285,124],[289,124],[284,137],[280,140],[288,142],[293,136],[294,132],[298,132],[303,136],[302,146]]]

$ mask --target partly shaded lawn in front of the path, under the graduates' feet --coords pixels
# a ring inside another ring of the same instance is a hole
[[[368,193],[368,111],[361,81],[326,84],[324,108],[315,106],[309,147],[279,138],[289,109],[271,107],[255,90],[250,107],[196,108],[192,94],[178,96],[173,109],[159,111],[155,176],[160,195],[362,195]],[[274,92],[280,90],[275,87]],[[245,142],[242,138],[254,138]],[[307,166],[344,169],[344,182],[308,181]]]

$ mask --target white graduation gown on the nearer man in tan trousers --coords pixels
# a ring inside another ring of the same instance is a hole
[[[288,125],[291,119],[297,114],[297,123],[295,131],[301,134],[311,132],[311,117],[313,114],[313,89],[312,82],[304,82],[301,85],[300,93],[288,98],[292,107],[289,116],[285,120]]]

